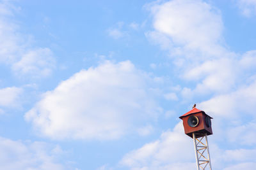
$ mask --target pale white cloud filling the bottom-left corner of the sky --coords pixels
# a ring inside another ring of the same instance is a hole
[[[0,169],[67,169],[57,162],[60,155],[54,150],[58,147],[0,137]]]

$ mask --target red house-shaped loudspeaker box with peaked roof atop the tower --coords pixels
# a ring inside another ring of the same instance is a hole
[[[185,113],[180,119],[183,120],[183,126],[185,134],[193,138],[193,132],[195,132],[195,137],[199,138],[204,136],[204,134],[211,135],[211,118],[204,111],[193,108],[188,113]]]

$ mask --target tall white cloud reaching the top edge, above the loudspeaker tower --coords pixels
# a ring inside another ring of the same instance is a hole
[[[180,78],[196,83],[181,91],[185,101],[234,88],[246,68],[225,48],[220,11],[201,0],[157,1],[148,8],[155,30],[146,36],[170,50]]]

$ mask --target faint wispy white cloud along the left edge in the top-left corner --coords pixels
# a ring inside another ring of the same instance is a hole
[[[9,1],[0,3],[0,62],[17,75],[48,76],[54,69],[49,48],[33,47],[32,36],[21,34],[13,17],[17,9]]]

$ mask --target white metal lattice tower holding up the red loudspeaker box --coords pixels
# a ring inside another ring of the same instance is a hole
[[[212,170],[207,134],[204,134],[204,136],[202,137],[196,138],[196,132],[193,132],[193,141],[195,146],[197,169]]]

